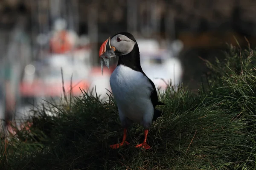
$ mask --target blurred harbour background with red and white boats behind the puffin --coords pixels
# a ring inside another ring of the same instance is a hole
[[[255,44],[255,9],[255,0],[0,0],[0,119],[58,101],[63,86],[75,96],[96,87],[105,99],[117,59],[102,75],[99,46],[121,31],[136,38],[157,88],[196,91],[207,74],[200,57]]]

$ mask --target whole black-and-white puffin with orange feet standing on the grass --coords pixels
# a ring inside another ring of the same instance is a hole
[[[150,149],[147,143],[148,130],[152,122],[162,115],[156,106],[165,104],[158,101],[154,83],[141,68],[139,46],[134,36],[128,32],[120,32],[109,37],[102,43],[99,56],[111,48],[118,56],[118,63],[111,74],[110,86],[124,132],[122,142],[110,147],[117,149],[129,144],[126,141],[127,128],[137,122],[144,127],[144,141],[136,147]]]

